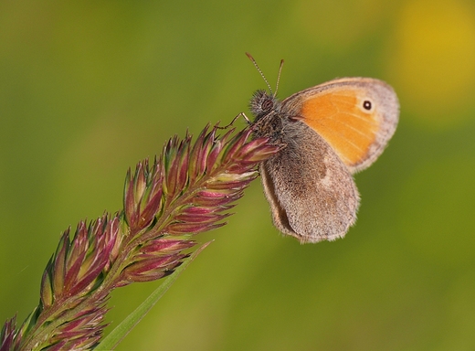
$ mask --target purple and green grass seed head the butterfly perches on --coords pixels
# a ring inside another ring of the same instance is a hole
[[[113,289],[174,273],[195,235],[226,224],[227,212],[278,152],[252,130],[209,125],[195,142],[174,136],[162,154],[125,177],[123,210],[66,229],[43,273],[39,304],[16,328],[7,320],[0,351],[89,350],[100,342]]]

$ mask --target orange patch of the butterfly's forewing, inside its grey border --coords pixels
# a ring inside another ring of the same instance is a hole
[[[368,157],[380,127],[376,109],[366,112],[362,104],[354,89],[320,91],[302,102],[299,116],[332,146],[345,165],[355,166]]]

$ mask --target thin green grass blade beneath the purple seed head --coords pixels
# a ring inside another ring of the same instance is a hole
[[[158,300],[160,300],[160,298],[164,295],[168,288],[170,288],[178,276],[183,271],[185,271],[185,268],[188,266],[188,264],[195,260],[195,257],[210,243],[211,241],[206,242],[200,248],[195,250],[195,252],[193,252],[188,259],[186,259],[176,270],[174,270],[174,273],[168,276],[164,282],[132,312],[132,314],[129,314],[121,322],[121,324],[117,325],[109,335],[104,337],[100,344],[94,348],[94,350],[110,351],[119,345],[121,340],[130,333],[132,328],[137,325],[145,316],[145,314],[147,314],[152,309],[153,305],[157,303]]]

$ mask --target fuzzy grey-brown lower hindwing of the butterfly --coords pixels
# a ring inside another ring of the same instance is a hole
[[[301,242],[342,238],[359,206],[353,176],[320,135],[303,129],[261,166],[274,224]]]

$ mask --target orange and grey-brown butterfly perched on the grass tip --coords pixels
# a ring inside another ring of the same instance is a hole
[[[254,137],[281,148],[259,166],[275,227],[301,243],[343,238],[360,203],[353,175],[396,131],[395,91],[382,80],[343,78],[283,101],[258,90],[249,105]]]

